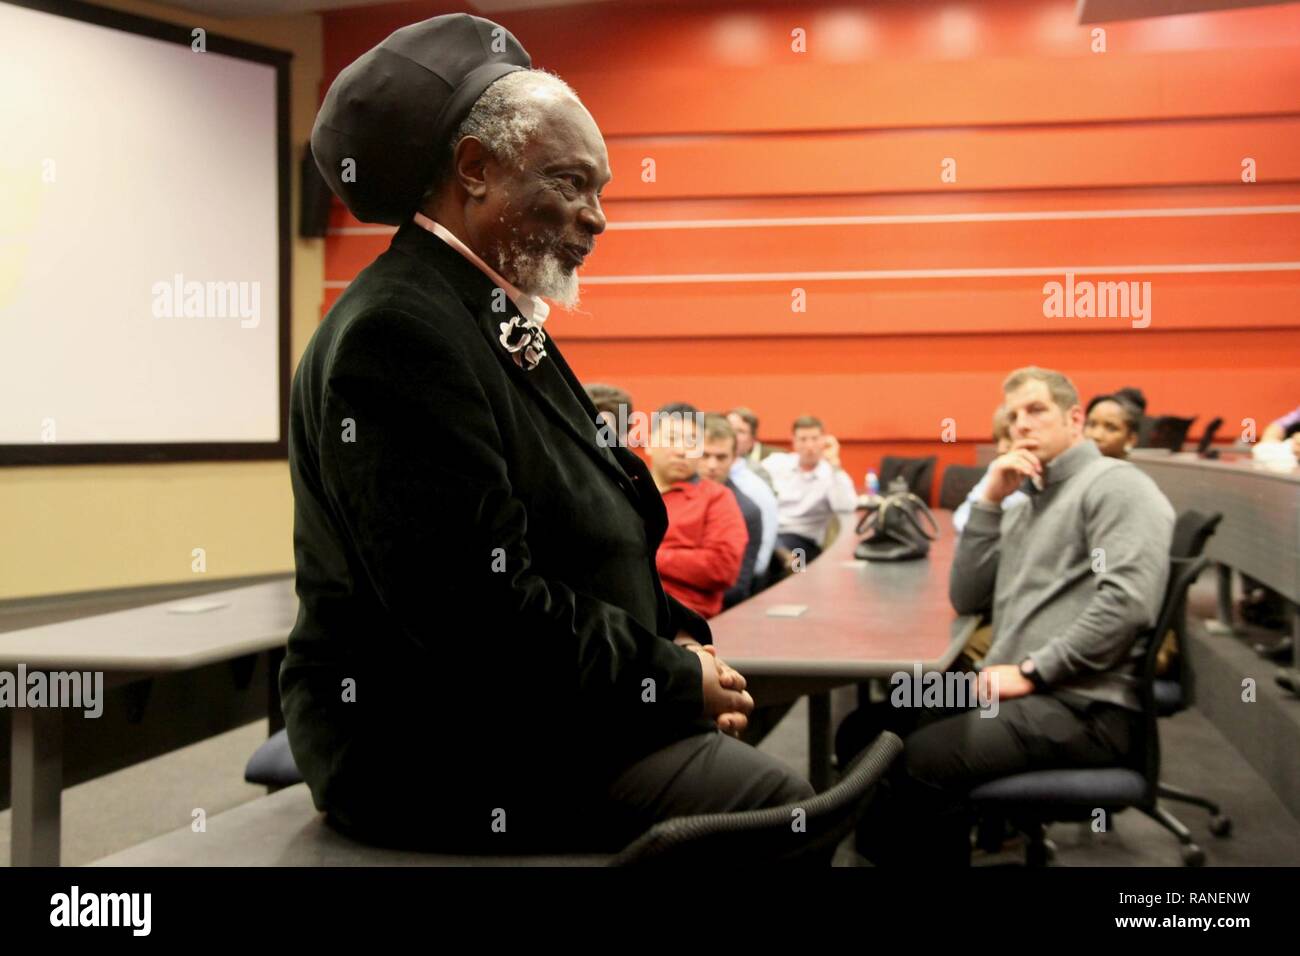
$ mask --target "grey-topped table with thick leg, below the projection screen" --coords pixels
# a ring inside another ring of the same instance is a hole
[[[100,671],[107,691],[159,674],[263,652],[270,653],[273,665],[278,666],[278,656],[296,615],[294,581],[285,578],[8,631],[0,633],[0,671],[25,672],[29,679],[35,672],[66,675]],[[64,710],[57,706],[22,706],[12,711],[13,866],[58,865]],[[270,682],[268,710],[274,731],[281,723],[276,680]]]

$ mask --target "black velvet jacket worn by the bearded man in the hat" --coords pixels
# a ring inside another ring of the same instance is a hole
[[[377,839],[563,831],[620,769],[712,728],[672,643],[708,626],[659,583],[654,481],[598,444],[552,341],[515,364],[515,315],[408,222],[294,377],[285,721],[317,808]]]

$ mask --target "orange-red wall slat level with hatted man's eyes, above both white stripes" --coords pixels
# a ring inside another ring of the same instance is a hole
[[[1300,57],[1297,57],[1300,60]],[[1300,77],[1297,77],[1300,82]],[[1300,181],[1300,116],[979,130],[608,139],[611,198],[956,193]],[[956,181],[942,163],[956,161]],[[654,161],[654,182],[642,181]]]

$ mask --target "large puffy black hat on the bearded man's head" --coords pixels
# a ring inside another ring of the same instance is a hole
[[[506,27],[482,17],[448,13],[404,26],[330,85],[312,129],[316,165],[359,220],[400,225],[484,90],[532,65]]]

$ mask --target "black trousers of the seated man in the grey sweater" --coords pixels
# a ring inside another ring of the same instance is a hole
[[[996,717],[888,700],[859,708],[836,734],[840,766],[883,730],[904,739],[904,753],[863,817],[858,852],[880,866],[970,865],[974,787],[1026,770],[1124,763],[1140,727],[1135,711],[1066,692],[1000,701]]]

